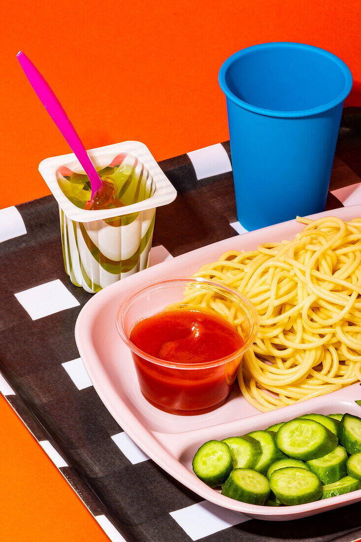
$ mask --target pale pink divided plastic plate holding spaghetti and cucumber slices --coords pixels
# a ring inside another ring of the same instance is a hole
[[[330,215],[350,220],[361,216],[361,205],[327,211],[313,217]],[[236,389],[227,402],[208,414],[167,414],[149,404],[141,395],[130,351],[119,338],[115,327],[115,314],[120,301],[146,283],[191,275],[204,263],[218,259],[227,250],[251,250],[260,242],[291,239],[303,227],[302,224],[289,221],[231,237],[116,282],[88,301],[75,326],[80,356],[96,392],[134,442],[173,478],[204,499],[257,519],[284,521],[325,512],[361,500],[361,489],[305,505],[249,505],[221,495],[194,475],[191,461],[198,447],[211,438],[222,439],[254,429],[265,429],[276,422],[290,420],[304,413],[351,412],[361,415],[361,408],[354,403],[361,398],[359,384],[266,414],[249,405]]]

